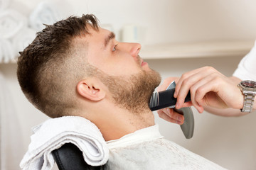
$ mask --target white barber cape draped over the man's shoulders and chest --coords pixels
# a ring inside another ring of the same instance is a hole
[[[217,164],[166,140],[159,126],[137,130],[119,140],[107,142],[110,158],[107,170],[223,169]]]

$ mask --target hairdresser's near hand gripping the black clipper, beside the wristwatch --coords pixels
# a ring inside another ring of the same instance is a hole
[[[238,80],[225,77],[213,67],[186,72],[176,84],[176,108],[183,107],[189,90],[193,106],[199,113],[203,113],[204,107],[242,108],[243,96],[237,84]]]

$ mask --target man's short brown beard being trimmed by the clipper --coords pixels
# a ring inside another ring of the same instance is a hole
[[[161,82],[160,74],[153,69],[142,70],[127,77],[115,77],[101,72],[97,77],[108,87],[117,106],[136,114],[149,110],[151,95]]]

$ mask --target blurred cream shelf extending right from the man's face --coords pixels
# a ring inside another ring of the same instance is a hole
[[[255,40],[167,43],[142,47],[143,59],[171,59],[195,57],[244,56],[253,47]]]

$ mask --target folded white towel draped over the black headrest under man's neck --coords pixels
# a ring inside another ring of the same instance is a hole
[[[97,126],[78,116],[65,116],[46,120],[33,129],[28,152],[21,160],[21,169],[53,168],[51,152],[65,143],[76,145],[83,154],[85,162],[100,166],[107,162],[109,150]]]

